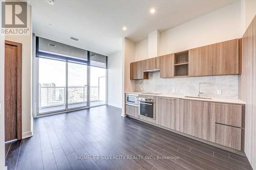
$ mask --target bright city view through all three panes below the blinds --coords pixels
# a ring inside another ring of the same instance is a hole
[[[87,65],[68,63],[66,76],[65,61],[39,58],[38,63],[39,114],[65,110],[66,103],[67,109],[88,107]],[[90,72],[90,105],[105,104],[106,69],[91,66]]]

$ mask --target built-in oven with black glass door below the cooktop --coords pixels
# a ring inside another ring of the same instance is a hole
[[[139,115],[156,119],[156,102],[154,99],[139,98]]]

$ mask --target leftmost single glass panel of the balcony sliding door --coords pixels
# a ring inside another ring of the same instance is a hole
[[[38,113],[66,110],[66,62],[38,58]]]

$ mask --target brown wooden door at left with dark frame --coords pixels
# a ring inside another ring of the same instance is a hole
[[[22,138],[22,44],[5,41],[5,141]]]

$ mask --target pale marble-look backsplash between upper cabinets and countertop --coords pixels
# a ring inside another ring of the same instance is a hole
[[[198,83],[201,82],[211,83],[200,85],[204,93],[202,96],[238,99],[238,75],[162,79],[160,72],[150,72],[148,80],[136,80],[135,89],[141,92],[197,95]],[[217,95],[217,90],[221,90],[221,95]]]

